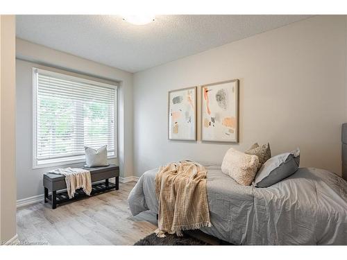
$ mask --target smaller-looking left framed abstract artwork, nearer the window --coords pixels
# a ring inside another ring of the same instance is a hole
[[[196,140],[196,87],[169,92],[169,139]]]

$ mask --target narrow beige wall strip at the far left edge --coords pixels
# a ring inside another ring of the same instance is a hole
[[[0,15],[0,245],[16,236],[15,16]]]

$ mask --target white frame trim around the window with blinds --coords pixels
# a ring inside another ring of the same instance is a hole
[[[39,160],[37,160],[37,88],[38,88],[38,73],[42,71],[45,75],[51,75],[51,76],[58,76],[61,77],[63,76],[66,79],[70,80],[77,80],[78,82],[81,83],[92,83],[92,84],[97,84],[101,87],[109,87],[112,89],[115,89],[115,119],[114,119],[114,128],[115,128],[115,151],[114,155],[108,155],[108,159],[117,159],[118,157],[118,137],[119,137],[119,131],[118,131],[118,83],[103,83],[96,80],[89,80],[86,78],[83,78],[83,75],[76,74],[76,76],[71,76],[68,75],[67,73],[63,72],[55,72],[55,71],[50,71],[48,69],[40,69],[37,67],[33,67],[33,169],[35,168],[46,168],[50,166],[62,166],[62,165],[67,165],[67,164],[78,164],[85,162],[85,155],[78,155],[78,156],[70,156],[70,157],[60,157],[60,158],[53,158],[53,159],[45,159],[42,163],[38,163]]]

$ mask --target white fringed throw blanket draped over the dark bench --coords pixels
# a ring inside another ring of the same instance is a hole
[[[57,168],[49,173],[65,176],[67,194],[69,198],[74,198],[76,189],[82,188],[87,196],[92,192],[92,177],[90,171],[83,168]]]

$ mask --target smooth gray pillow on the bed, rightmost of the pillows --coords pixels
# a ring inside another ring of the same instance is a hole
[[[255,187],[269,187],[289,177],[298,170],[300,150],[282,153],[268,159],[257,172],[253,184]]]

